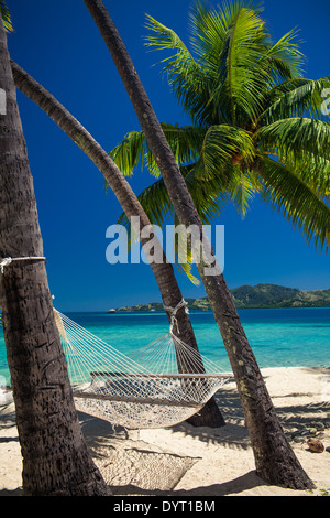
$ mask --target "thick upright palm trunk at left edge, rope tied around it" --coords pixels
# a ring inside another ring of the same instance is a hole
[[[0,258],[43,257],[33,181],[0,15]],[[0,271],[0,306],[25,495],[105,495],[79,427],[43,260]]]

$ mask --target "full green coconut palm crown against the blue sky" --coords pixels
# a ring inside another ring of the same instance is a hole
[[[320,250],[330,240],[330,77],[302,75],[297,32],[272,42],[262,6],[246,1],[189,13],[189,48],[147,17],[146,45],[162,61],[169,86],[191,126],[163,123],[205,224],[232,201],[246,214],[256,192]],[[110,152],[124,174],[141,163],[158,176],[142,131]],[[173,214],[163,180],[140,195],[154,224]],[[123,217],[121,223],[129,226]]]

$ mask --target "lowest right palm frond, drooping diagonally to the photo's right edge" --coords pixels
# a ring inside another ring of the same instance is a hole
[[[320,250],[330,242],[330,207],[293,170],[268,158],[256,161],[264,182],[262,197]]]

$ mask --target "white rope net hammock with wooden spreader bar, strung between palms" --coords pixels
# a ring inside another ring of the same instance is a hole
[[[129,356],[58,311],[54,315],[76,409],[114,425],[166,428],[186,421],[232,378],[176,337],[172,326]]]

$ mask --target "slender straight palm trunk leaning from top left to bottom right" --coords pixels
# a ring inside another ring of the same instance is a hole
[[[100,30],[128,90],[180,224],[186,226],[198,225],[202,229],[200,217],[185,180],[117,28],[101,0],[84,1]],[[312,482],[296,458],[278,422],[223,274],[220,272],[217,259],[212,255],[211,246],[207,239],[205,239],[205,253],[202,257],[212,257],[215,268],[218,271],[215,276],[205,273],[205,268],[209,266],[210,260],[201,261],[198,265],[198,271],[222,335],[238,385],[257,474],[267,483],[278,486],[299,489],[312,487]]]

